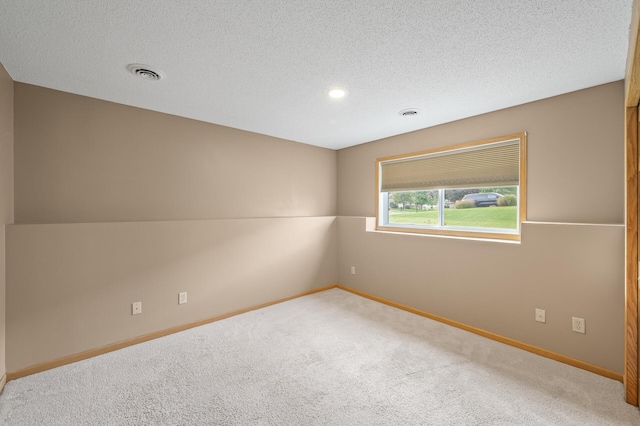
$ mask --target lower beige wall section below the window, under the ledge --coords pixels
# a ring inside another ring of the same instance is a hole
[[[338,218],[341,284],[622,373],[624,226],[525,223],[522,244],[507,244],[365,222]],[[586,334],[571,331],[572,316]]]

